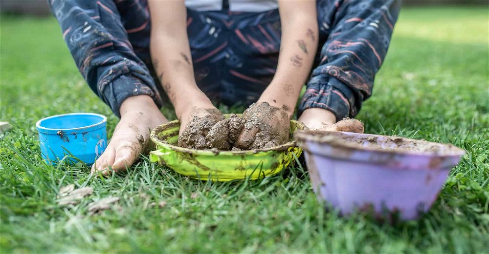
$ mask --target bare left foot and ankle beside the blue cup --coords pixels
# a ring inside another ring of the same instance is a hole
[[[92,173],[109,175],[111,171],[125,171],[148,148],[150,130],[168,122],[153,99],[145,95],[124,100],[120,112],[121,119],[111,141],[92,165]]]

